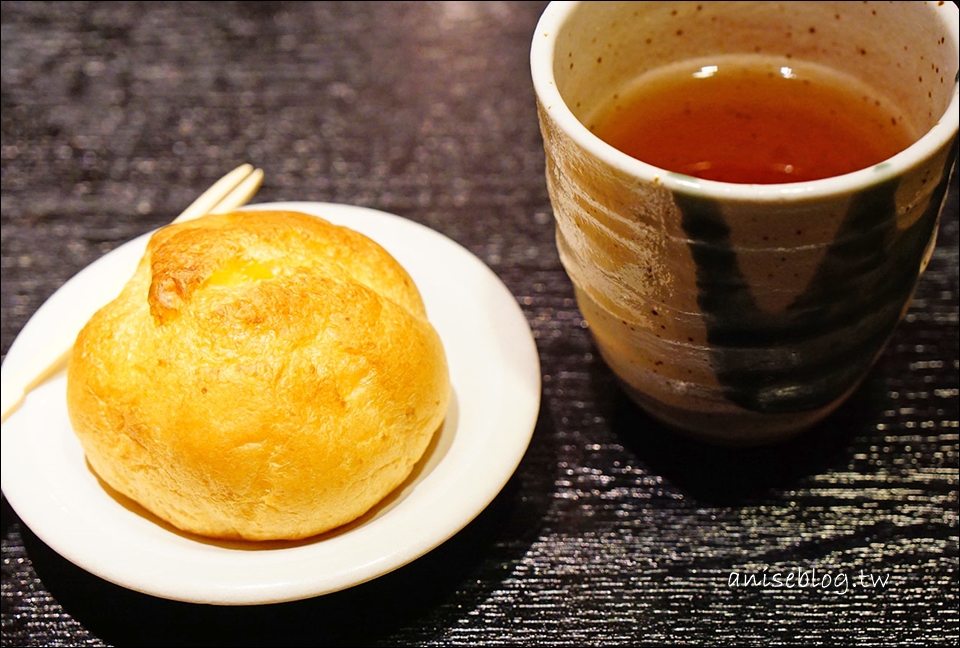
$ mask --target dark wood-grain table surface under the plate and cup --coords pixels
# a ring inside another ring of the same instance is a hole
[[[527,59],[543,6],[2,3],[4,354],[77,271],[251,162],[255,202],[369,206],[472,251],[522,307],[543,377],[496,500],[423,558],[327,596],[128,591],[4,499],[4,645],[958,639],[956,177],[915,303],[845,406],[775,447],[679,438],[618,392],[557,257]],[[813,568],[848,587],[731,585]]]

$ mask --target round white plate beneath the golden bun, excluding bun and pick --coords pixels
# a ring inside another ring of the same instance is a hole
[[[274,603],[342,590],[401,567],[476,517],[513,474],[540,405],[540,365],[526,318],[497,276],[463,247],[413,221],[325,203],[271,203],[347,225],[380,243],[413,276],[448,355],[447,420],[414,474],[347,527],[296,543],[209,542],[182,534],[110,492],[87,465],[66,411],[61,372],[3,424],[2,486],[55,551],[87,571],[163,598]],[[63,285],[14,341],[16,371],[64,322],[85,322],[133,273],[149,235]]]

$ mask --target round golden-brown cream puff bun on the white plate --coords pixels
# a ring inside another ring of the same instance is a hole
[[[449,397],[407,272],[296,212],[156,232],[67,374],[73,427],[107,484],[186,531],[249,540],[365,513],[409,475]]]

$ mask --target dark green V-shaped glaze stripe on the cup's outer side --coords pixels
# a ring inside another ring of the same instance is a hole
[[[697,268],[697,302],[728,399],[770,414],[809,411],[833,402],[863,375],[913,291],[955,157],[956,142],[930,205],[906,231],[896,227],[896,182],[857,196],[806,289],[776,314],[758,308],[719,206],[675,194]]]

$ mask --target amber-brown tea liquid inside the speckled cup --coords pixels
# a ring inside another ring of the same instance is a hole
[[[861,81],[763,56],[646,74],[589,126],[608,144],[668,171],[756,184],[850,173],[916,139],[896,106]]]

